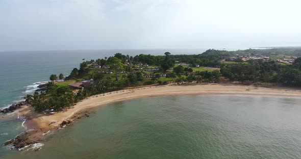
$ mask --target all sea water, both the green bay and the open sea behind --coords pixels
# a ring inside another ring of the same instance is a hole
[[[0,52],[0,108],[33,93],[50,74],[68,75],[82,59],[116,52],[200,54],[206,49]],[[0,147],[0,158],[301,158],[298,98],[235,95],[149,97],[93,110],[43,142],[40,151]],[[0,118],[0,143],[20,134],[22,118]]]

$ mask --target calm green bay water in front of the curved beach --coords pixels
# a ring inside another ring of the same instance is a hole
[[[96,109],[4,158],[301,158],[301,99],[149,97]]]

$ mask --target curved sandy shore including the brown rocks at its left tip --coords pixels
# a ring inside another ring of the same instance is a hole
[[[116,93],[118,92],[118,93]],[[16,112],[24,115],[27,120],[24,125],[32,130],[26,134],[26,142],[22,142],[17,148],[36,143],[44,138],[49,130],[56,130],[63,125],[72,123],[82,117],[88,117],[87,110],[100,107],[112,102],[130,100],[141,97],[153,96],[179,96],[179,95],[200,95],[200,94],[231,94],[231,95],[256,95],[273,97],[293,97],[301,98],[301,90],[288,87],[255,87],[253,85],[234,84],[198,84],[198,85],[165,85],[165,86],[145,86],[143,88],[124,89],[105,94],[99,94],[84,99],[74,105],[74,108],[54,115],[42,114],[33,111],[29,105],[24,105]],[[66,123],[67,121],[67,123]],[[44,135],[43,135],[44,134]],[[27,141],[28,140],[28,141]]]

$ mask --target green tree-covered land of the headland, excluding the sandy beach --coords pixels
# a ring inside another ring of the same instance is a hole
[[[238,59],[237,62],[224,63],[224,59],[237,55],[299,56],[300,49],[247,49],[237,51],[209,49],[199,55],[129,56],[120,53],[113,57],[84,61],[79,69],[74,68],[64,77],[52,74],[47,89],[28,95],[26,101],[32,103],[37,111],[54,109],[59,111],[92,95],[122,90],[129,86],[150,84],[197,84],[219,83],[221,78],[238,82],[262,82],[287,86],[301,86],[301,58],[290,65],[274,60]],[[210,67],[211,69],[206,69]],[[100,69],[103,68],[103,69]],[[157,69],[153,69],[157,68]],[[213,68],[213,69],[212,69]],[[214,69],[216,68],[216,69]],[[100,71],[104,70],[104,71]],[[109,74],[106,71],[110,70]],[[111,74],[112,73],[112,74]],[[55,81],[81,81],[93,79],[93,83],[84,89],[71,90],[67,85]]]

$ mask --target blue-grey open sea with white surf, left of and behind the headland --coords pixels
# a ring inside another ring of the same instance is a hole
[[[48,81],[50,74],[68,75],[79,67],[82,59],[98,59],[113,56],[116,52],[135,56],[139,54],[164,55],[200,54],[205,49],[110,49],[110,50],[62,50],[62,51],[16,51],[0,52],[0,109],[19,101],[21,96],[33,93],[39,83]],[[22,121],[0,118],[0,144],[22,132]],[[6,135],[8,134],[8,135]],[[12,153],[0,147],[2,155]]]

